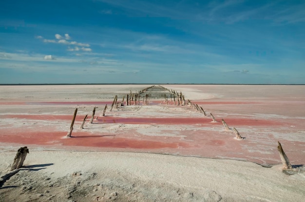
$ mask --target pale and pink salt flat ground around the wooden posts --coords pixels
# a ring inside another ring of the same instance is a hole
[[[0,201],[304,200],[305,172],[282,172],[277,141],[302,168],[305,86],[162,85],[207,116],[157,96],[101,115],[115,95],[121,101],[149,86],[0,86]],[[21,146],[30,151],[24,166],[7,176]]]

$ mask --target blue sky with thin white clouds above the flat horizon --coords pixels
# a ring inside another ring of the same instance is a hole
[[[0,84],[305,84],[304,0],[2,0]]]

